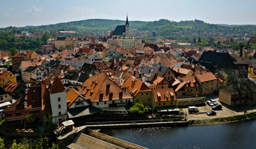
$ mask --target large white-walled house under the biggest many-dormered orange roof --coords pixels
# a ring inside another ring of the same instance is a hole
[[[78,90],[86,99],[89,98],[91,105],[96,108],[108,110],[113,106],[132,104],[132,96],[102,73],[88,78]]]

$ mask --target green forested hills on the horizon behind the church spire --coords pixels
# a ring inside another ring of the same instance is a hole
[[[52,31],[51,33],[55,31],[77,31],[84,35],[91,33],[91,35],[105,36],[109,34],[109,31],[113,31],[116,25],[124,24],[125,20],[90,19],[54,25],[26,26],[18,28],[18,30],[30,32],[50,30]],[[8,30],[8,28],[0,28],[0,30]],[[201,20],[175,22],[161,19],[148,22],[129,21],[129,31],[133,35],[146,39],[162,37],[165,39],[187,41],[199,37],[201,39],[215,39],[218,36],[223,38],[241,38],[246,33],[252,36],[256,33],[256,25],[217,25],[205,23]]]

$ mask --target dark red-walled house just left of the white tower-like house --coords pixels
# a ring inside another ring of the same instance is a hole
[[[42,126],[52,126],[48,89],[45,85],[29,86],[26,94],[4,110],[5,124],[26,122],[25,116],[32,114],[34,121]]]

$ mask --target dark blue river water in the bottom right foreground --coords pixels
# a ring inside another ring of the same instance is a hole
[[[256,120],[211,126],[102,130],[146,148],[256,148]]]

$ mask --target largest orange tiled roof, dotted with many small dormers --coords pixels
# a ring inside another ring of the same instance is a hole
[[[84,97],[91,97],[91,102],[132,98],[127,92],[124,92],[123,89],[102,73],[97,73],[91,78],[88,78],[78,90],[82,90]],[[121,97],[120,92],[122,93]]]

